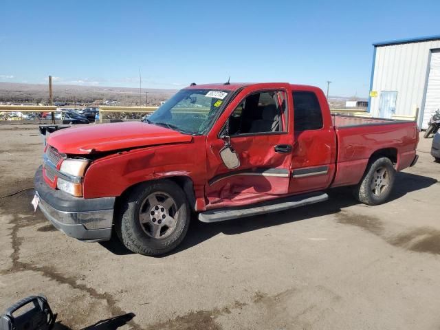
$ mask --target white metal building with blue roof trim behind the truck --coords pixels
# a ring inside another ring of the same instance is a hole
[[[440,35],[373,43],[369,112],[426,129],[440,109]]]

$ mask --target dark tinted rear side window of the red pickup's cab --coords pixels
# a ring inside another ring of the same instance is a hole
[[[294,130],[322,129],[322,112],[312,91],[294,91]]]

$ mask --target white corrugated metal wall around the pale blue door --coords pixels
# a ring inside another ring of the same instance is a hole
[[[440,49],[440,40],[376,47],[371,90],[377,91],[377,97],[370,105],[374,116],[379,115],[380,91],[397,91],[397,115],[414,115],[415,107],[421,108],[433,49]]]

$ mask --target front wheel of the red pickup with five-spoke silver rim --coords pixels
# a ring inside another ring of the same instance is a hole
[[[116,232],[129,250],[157,256],[173,250],[188,231],[190,209],[173,181],[157,181],[133,189],[120,210]]]

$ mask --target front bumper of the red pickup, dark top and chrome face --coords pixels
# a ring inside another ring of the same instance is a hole
[[[81,241],[108,241],[115,197],[85,199],[47,186],[42,166],[34,177],[39,208],[54,227]]]

